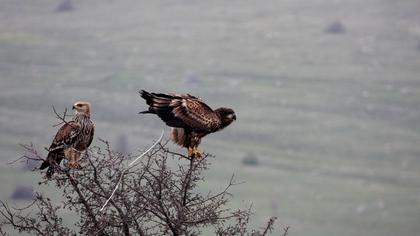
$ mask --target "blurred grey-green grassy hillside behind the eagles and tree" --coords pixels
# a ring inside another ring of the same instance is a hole
[[[202,191],[232,173],[232,207],[290,235],[418,235],[417,1],[0,1],[1,199],[38,173],[6,163],[45,153],[58,110],[92,102],[97,137],[132,152],[162,123],[137,91],[189,92],[238,121],[206,137]],[[324,29],[339,20],[341,34]],[[168,129],[167,129],[168,131]],[[185,151],[172,146],[175,150]],[[260,164],[242,164],[247,153]],[[56,195],[54,188],[43,189]],[[67,213],[66,213],[67,214]]]

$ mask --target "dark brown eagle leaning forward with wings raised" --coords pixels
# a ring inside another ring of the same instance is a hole
[[[178,145],[188,148],[188,157],[201,157],[197,149],[201,138],[219,131],[236,120],[230,108],[212,110],[200,98],[190,94],[149,93],[141,90],[149,109],[140,114],[158,115],[171,129],[171,139]]]

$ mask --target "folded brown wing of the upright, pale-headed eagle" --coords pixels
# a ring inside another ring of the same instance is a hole
[[[76,137],[80,133],[80,125],[74,121],[67,122],[57,131],[51,146],[49,148],[50,152],[54,152],[59,149],[64,149],[68,146],[71,146]]]

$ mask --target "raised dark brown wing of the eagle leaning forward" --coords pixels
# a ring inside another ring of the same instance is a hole
[[[211,132],[221,123],[207,104],[192,95],[167,95],[144,90],[140,93],[149,105],[149,110],[141,113],[157,114],[168,126]]]

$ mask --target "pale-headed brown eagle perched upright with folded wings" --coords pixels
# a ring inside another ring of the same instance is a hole
[[[63,158],[69,161],[69,167],[81,168],[80,155],[92,143],[95,124],[90,120],[90,103],[76,102],[73,110],[73,119],[58,130],[48,149],[47,160],[40,167],[41,170],[49,167],[46,175],[48,178],[53,175],[55,165],[60,165]]]

